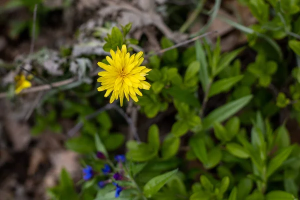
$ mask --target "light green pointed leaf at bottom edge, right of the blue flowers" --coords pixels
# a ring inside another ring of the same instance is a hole
[[[143,193],[146,197],[151,197],[153,194],[157,193],[159,189],[167,183],[167,181],[177,173],[178,169],[157,175],[151,178],[143,187]]]

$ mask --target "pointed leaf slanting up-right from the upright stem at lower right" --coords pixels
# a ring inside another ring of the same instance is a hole
[[[273,157],[266,169],[266,177],[269,177],[272,175],[277,168],[280,167],[282,162],[286,160],[286,158],[289,156],[293,149],[293,146],[287,146],[284,149],[282,149],[275,157]]]

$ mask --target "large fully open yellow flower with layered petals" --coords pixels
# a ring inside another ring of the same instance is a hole
[[[130,56],[126,45],[123,44],[121,50],[119,48],[117,48],[116,52],[110,50],[110,54],[111,57],[106,56],[109,65],[98,62],[98,65],[104,69],[104,71],[98,73],[101,76],[97,79],[98,82],[101,82],[98,91],[106,89],[105,97],[112,92],[110,103],[119,97],[122,106],[124,95],[127,100],[129,100],[130,96],[137,102],[136,94],[142,96],[139,89],[149,89],[151,86],[145,81],[146,78],[144,77],[151,69],[139,66],[143,61],[143,52],[139,51]]]

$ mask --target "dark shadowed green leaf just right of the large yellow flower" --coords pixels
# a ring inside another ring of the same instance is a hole
[[[179,86],[172,86],[166,89],[167,93],[174,97],[174,99],[184,102],[194,107],[200,107],[199,100],[189,91],[181,89]]]

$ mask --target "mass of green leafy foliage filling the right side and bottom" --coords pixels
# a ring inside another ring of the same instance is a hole
[[[258,23],[246,27],[223,20],[247,35],[247,45],[221,52],[220,38],[214,45],[203,39],[161,56],[149,54],[147,65],[152,70],[146,78],[151,88],[143,91],[136,104],[148,118],[174,106],[175,121],[167,134],[162,135],[152,124],[147,133],[140,133],[147,134],[145,141],[126,141],[114,128],[120,120],[112,112],[103,111],[86,120],[95,107],[106,102],[100,97],[103,92],[90,93],[96,84],[78,84],[70,91],[76,98],[62,95],[59,101],[50,102],[58,104],[61,111],[36,115],[32,132],[60,131],[57,117],[82,122],[80,134],[69,138],[65,146],[84,154],[82,165],[95,171],[101,171],[106,162],[112,165],[110,159],[124,144],[126,179],[117,181],[127,188],[121,192],[122,200],[297,199],[300,146],[292,144],[286,120],[293,117],[300,122],[300,1],[239,3],[250,9]],[[127,36],[130,28],[131,24],[112,27],[103,49],[136,45],[138,42]],[[166,37],[160,40],[162,48],[173,44]],[[132,51],[132,46],[128,50]],[[248,56],[249,51],[254,52],[253,59],[244,62],[240,55]],[[290,116],[282,116],[281,109]],[[109,161],[96,158],[96,151]],[[190,163],[197,165],[191,167]],[[97,186],[107,178],[99,173],[80,182],[76,194],[63,170],[60,183],[49,193],[54,199],[66,199],[66,191],[72,199],[115,199],[111,182],[104,188]]]

